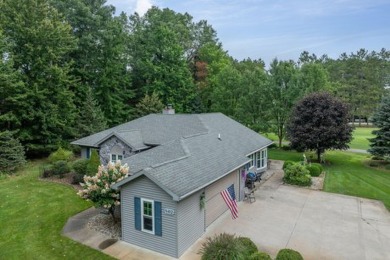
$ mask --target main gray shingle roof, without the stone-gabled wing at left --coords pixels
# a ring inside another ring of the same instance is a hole
[[[140,130],[144,139],[162,145],[125,158],[123,163],[135,175],[116,188],[144,174],[180,200],[246,164],[247,155],[272,143],[221,113],[141,119],[153,126],[146,134]]]

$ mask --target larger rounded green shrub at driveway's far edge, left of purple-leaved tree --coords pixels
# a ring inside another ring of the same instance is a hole
[[[294,163],[284,169],[284,182],[299,186],[310,186],[310,172],[304,165]]]

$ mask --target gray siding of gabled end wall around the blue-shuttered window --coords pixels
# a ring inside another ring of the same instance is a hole
[[[174,215],[162,214],[162,236],[135,229],[134,197],[160,201],[162,209],[175,211]],[[165,191],[141,176],[121,189],[122,240],[172,257],[177,257],[177,203]]]

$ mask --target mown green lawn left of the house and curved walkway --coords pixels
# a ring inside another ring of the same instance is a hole
[[[0,178],[0,259],[112,259],[61,235],[91,204],[72,187],[38,180],[42,161]]]

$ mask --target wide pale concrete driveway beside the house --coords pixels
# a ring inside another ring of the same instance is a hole
[[[274,172],[256,202],[239,204],[238,219],[226,212],[180,259],[200,259],[205,238],[222,232],[250,237],[273,257],[292,248],[305,259],[390,259],[390,214],[381,202],[282,185],[282,171]]]

